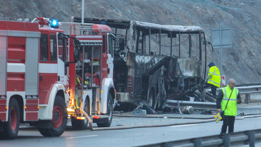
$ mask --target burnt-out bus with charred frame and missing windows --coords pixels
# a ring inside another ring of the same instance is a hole
[[[166,99],[204,101],[200,91],[206,73],[206,41],[201,27],[100,18],[84,22],[106,23],[117,37],[114,85],[118,103],[143,103],[157,109]],[[122,38],[126,40],[123,51],[118,50]]]

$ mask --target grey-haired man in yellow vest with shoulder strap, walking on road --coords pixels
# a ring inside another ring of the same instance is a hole
[[[236,104],[241,103],[241,97],[238,89],[234,88],[236,81],[229,79],[229,83],[226,87],[221,88],[217,97],[217,112],[223,113],[223,125],[221,128],[221,134],[227,132],[234,132],[235,117],[237,114]]]

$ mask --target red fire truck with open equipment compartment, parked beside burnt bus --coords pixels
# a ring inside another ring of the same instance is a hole
[[[78,107],[92,115],[93,123],[98,127],[109,127],[116,105],[112,46],[115,36],[110,27],[101,24],[61,22],[60,27],[66,34],[79,39],[79,61],[69,65],[71,79],[67,110],[72,127],[75,130],[87,128],[88,122]],[[73,47],[71,43],[69,49]],[[69,54],[73,51],[69,50]],[[69,60],[74,62],[73,58],[69,57]]]

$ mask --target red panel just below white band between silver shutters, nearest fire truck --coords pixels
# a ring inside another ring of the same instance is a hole
[[[25,73],[7,72],[7,91],[25,91]]]

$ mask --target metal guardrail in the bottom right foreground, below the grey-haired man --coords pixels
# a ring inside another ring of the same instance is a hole
[[[213,136],[205,136],[198,138],[190,138],[183,140],[176,140],[170,142],[155,143],[149,145],[142,145],[144,147],[203,147],[203,146],[242,146],[249,144],[254,147],[255,143],[261,142],[261,129],[241,131],[228,134],[219,134]]]

